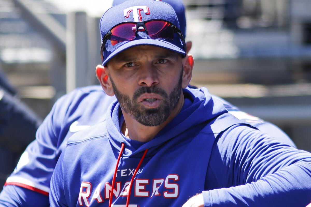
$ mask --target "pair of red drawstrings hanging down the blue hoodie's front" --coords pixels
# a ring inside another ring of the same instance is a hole
[[[122,142],[121,150],[120,150],[120,153],[119,153],[119,156],[118,156],[118,160],[117,160],[117,164],[116,164],[116,168],[114,170],[114,177],[112,178],[112,183],[111,183],[112,185],[111,185],[111,191],[110,191],[110,197],[109,197],[109,207],[111,207],[111,204],[112,204],[112,196],[113,196],[113,192],[114,192],[114,183],[115,183],[115,179],[116,179],[116,175],[117,175],[117,171],[118,171],[118,165],[119,165],[119,161],[121,159],[123,150],[124,150],[124,143]],[[137,165],[137,168],[135,169],[135,171],[133,173],[131,182],[129,184],[128,196],[126,198],[126,207],[128,207],[128,205],[130,203],[131,188],[132,188],[132,184],[133,184],[134,178],[135,178],[135,176],[136,176],[136,174],[138,172],[138,169],[140,168],[140,165],[142,164],[142,161],[144,160],[144,158],[145,158],[145,156],[147,154],[147,151],[148,151],[148,149],[145,150],[144,154],[142,155],[142,158],[140,159],[140,161],[139,161],[139,163]]]

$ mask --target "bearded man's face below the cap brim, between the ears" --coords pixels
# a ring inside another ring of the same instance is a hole
[[[155,46],[127,49],[108,63],[109,79],[123,112],[145,126],[158,126],[182,92],[181,57]]]

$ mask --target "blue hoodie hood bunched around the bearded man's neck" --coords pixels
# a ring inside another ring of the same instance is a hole
[[[108,111],[106,117],[106,127],[109,141],[117,149],[117,151],[120,151],[121,144],[124,143],[125,149],[123,151],[123,156],[125,157],[133,156],[146,149],[149,149],[149,153],[153,152],[151,154],[154,154],[156,153],[158,146],[164,142],[182,135],[186,131],[187,133],[193,133],[197,131],[195,129],[201,125],[204,128],[207,121],[211,122],[211,120],[216,119],[222,114],[228,114],[228,111],[225,109],[223,104],[218,100],[213,100],[211,98],[211,94],[206,88],[186,88],[183,89],[183,95],[185,103],[186,101],[190,102],[190,105],[187,104],[187,106],[183,106],[179,114],[169,124],[167,124],[151,141],[146,142],[138,149],[135,149],[120,133],[119,113],[121,113],[121,109],[118,101],[115,101],[111,104],[110,110]],[[210,127],[214,133],[219,133],[220,131],[225,130],[228,126],[224,124],[223,127]],[[178,142],[178,140],[176,141]]]

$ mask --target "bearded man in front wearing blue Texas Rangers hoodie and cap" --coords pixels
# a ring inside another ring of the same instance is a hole
[[[187,88],[193,57],[172,7],[124,2],[100,31],[96,75],[118,101],[105,122],[69,138],[51,206],[308,204],[310,153],[236,119],[205,88]]]

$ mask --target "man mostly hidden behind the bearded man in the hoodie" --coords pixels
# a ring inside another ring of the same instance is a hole
[[[182,2],[162,1],[173,6],[179,16],[184,34],[186,22]],[[124,1],[115,0],[114,5],[121,2]],[[188,42],[187,50],[191,48],[190,46]],[[39,128],[36,140],[21,156],[16,170],[7,179],[6,187],[0,195],[0,206],[33,206],[33,200],[36,200],[36,206],[48,205],[49,181],[68,137],[81,129],[104,121],[105,111],[113,101],[115,98],[106,96],[100,86],[76,89],[59,99]],[[221,101],[226,109],[239,119],[247,120],[261,131],[275,136],[288,145],[295,146],[276,126],[247,115],[224,100]]]

